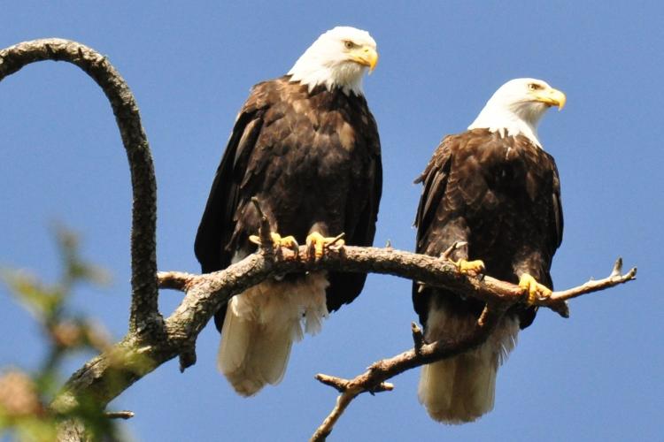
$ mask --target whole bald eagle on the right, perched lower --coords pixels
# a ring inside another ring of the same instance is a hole
[[[542,80],[511,80],[467,132],[444,138],[415,181],[424,185],[415,218],[418,253],[438,256],[459,241],[463,246],[452,255],[459,271],[518,283],[529,301],[551,293],[549,270],[562,239],[560,181],[537,139],[537,123],[565,100]],[[484,307],[419,284],[413,284],[413,305],[429,342],[471,331]],[[535,314],[530,305],[516,305],[481,347],[425,365],[418,393],[429,415],[466,423],[489,412],[498,365]]]

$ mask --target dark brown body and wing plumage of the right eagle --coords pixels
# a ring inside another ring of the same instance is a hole
[[[473,129],[450,135],[416,180],[424,185],[415,225],[418,253],[440,255],[467,242],[454,260],[482,259],[486,274],[517,284],[528,272],[552,288],[549,269],[562,240],[560,180],[553,157],[522,135]],[[413,286],[413,305],[427,322],[429,298],[479,316],[483,303],[444,290]],[[536,309],[514,306],[521,328]]]

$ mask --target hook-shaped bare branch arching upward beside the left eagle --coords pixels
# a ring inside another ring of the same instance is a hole
[[[157,304],[157,184],[147,137],[134,95],[120,73],[96,50],[79,42],[50,38],[21,42],[0,50],[0,81],[31,63],[44,60],[77,65],[97,82],[111,103],[127,150],[133,192],[130,331],[160,328]]]

